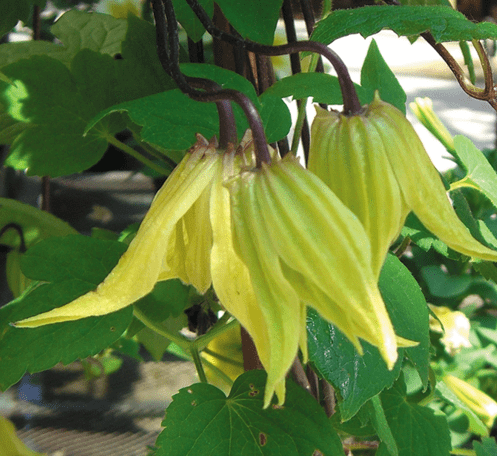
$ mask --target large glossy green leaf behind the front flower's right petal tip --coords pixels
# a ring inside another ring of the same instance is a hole
[[[398,335],[420,342],[417,347],[399,349],[418,370],[423,383],[428,377],[428,308],[423,294],[407,268],[389,255],[380,275],[380,290]],[[363,342],[364,355],[333,325],[309,310],[307,319],[309,359],[319,374],[340,393],[340,413],[348,420],[360,407],[384,388],[390,387],[400,372],[399,361],[389,371],[378,350]]]

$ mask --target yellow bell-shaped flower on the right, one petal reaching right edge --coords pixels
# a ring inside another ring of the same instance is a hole
[[[457,217],[412,125],[378,93],[358,115],[317,108],[308,167],[364,225],[377,278],[410,211],[450,248],[497,261]]]

